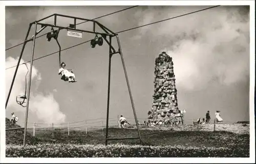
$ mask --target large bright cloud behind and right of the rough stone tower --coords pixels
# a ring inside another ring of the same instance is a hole
[[[179,87],[196,90],[247,80],[249,13],[242,11],[244,7],[216,8],[151,29],[155,37],[169,39],[162,50],[173,57]]]

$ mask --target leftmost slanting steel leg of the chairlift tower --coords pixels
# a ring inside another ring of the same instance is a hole
[[[24,41],[24,44],[23,44],[23,47],[22,47],[22,51],[20,52],[18,63],[17,63],[16,69],[15,69],[15,72],[14,72],[14,75],[13,75],[13,78],[12,78],[12,83],[11,83],[11,87],[10,87],[10,90],[9,90],[9,93],[8,93],[8,96],[7,96],[7,99],[6,99],[5,108],[7,107],[7,104],[8,104],[11,92],[12,92],[12,87],[13,87],[13,84],[14,84],[14,81],[15,81],[15,77],[16,77],[16,74],[17,74],[17,71],[18,71],[18,66],[19,66],[20,60],[22,60],[22,55],[23,55],[23,52],[24,52],[24,49],[25,49],[25,45],[28,42],[27,39],[28,39],[28,36],[29,36],[29,32],[30,32],[31,26],[32,26],[32,24],[30,23],[29,24],[29,29],[28,29],[28,32],[27,32],[27,35],[25,37],[25,41]]]

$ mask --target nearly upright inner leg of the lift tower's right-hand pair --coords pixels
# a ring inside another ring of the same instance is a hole
[[[108,133],[109,133],[109,110],[110,110],[110,78],[111,78],[111,43],[112,36],[110,36],[110,48],[109,48],[109,82],[108,82],[108,102],[106,106],[106,134],[105,134],[105,145],[108,145]]]

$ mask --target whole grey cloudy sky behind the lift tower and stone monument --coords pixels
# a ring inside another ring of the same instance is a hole
[[[58,13],[92,19],[129,6],[41,6],[6,7],[6,48],[22,43],[29,23]],[[179,16],[209,6],[139,6],[97,19],[113,32]],[[53,23],[52,19],[45,22]],[[68,26],[71,19],[58,19]],[[91,30],[87,22],[77,28]],[[39,29],[39,27],[38,27]],[[34,31],[32,27],[30,37]],[[41,34],[47,33],[50,28]],[[93,39],[59,34],[62,49]],[[185,121],[214,116],[216,110],[226,122],[249,120],[249,7],[220,6],[163,21],[119,34],[135,110],[139,120],[147,117],[154,93],[155,58],[162,52],[173,58],[179,108]],[[114,41],[116,44],[116,41]],[[26,45],[22,62],[31,59],[32,42]],[[22,45],[6,51],[6,68],[15,66]],[[58,50],[55,40],[36,39],[34,58]],[[58,75],[58,54],[33,63],[29,122],[73,122],[106,117],[108,91],[108,45],[82,44],[61,52],[61,61],[73,69],[77,83],[62,81]],[[30,63],[28,63],[30,67]],[[6,70],[6,97],[15,68]],[[19,67],[6,117],[14,112],[24,122],[26,108],[15,102],[25,92],[26,66]],[[112,58],[110,118],[124,115],[133,120],[133,111],[119,55]]]

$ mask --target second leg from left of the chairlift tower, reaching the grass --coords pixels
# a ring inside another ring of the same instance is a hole
[[[25,129],[24,129],[24,140],[23,146],[26,145],[26,134],[27,134],[27,125],[28,125],[28,112],[29,112],[29,99],[30,99],[30,86],[31,86],[31,76],[32,76],[32,67],[33,67],[33,58],[34,58],[34,50],[35,50],[35,36],[36,36],[36,28],[37,22],[35,22],[35,30],[33,37],[33,46],[32,46],[32,54],[31,54],[31,64],[30,64],[30,72],[29,72],[29,85],[28,85],[28,96],[27,96],[27,108],[26,108],[26,116],[25,116]]]

